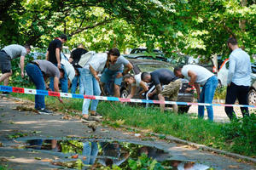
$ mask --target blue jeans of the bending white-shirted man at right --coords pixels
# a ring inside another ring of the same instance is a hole
[[[212,76],[208,78],[207,82],[203,86],[200,94],[200,100],[199,103],[207,103],[212,104],[212,99],[214,97],[215,90],[218,86],[218,78],[215,76]],[[199,105],[198,106],[198,117],[203,118],[205,112],[205,106]],[[207,106],[207,113],[208,113],[208,119],[210,121],[213,121],[213,110],[212,105]]]

